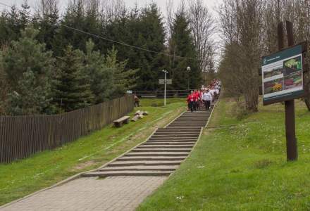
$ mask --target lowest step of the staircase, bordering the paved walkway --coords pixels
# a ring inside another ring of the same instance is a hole
[[[82,177],[113,177],[113,176],[168,176],[173,171],[110,171],[110,172],[89,172],[82,174]]]

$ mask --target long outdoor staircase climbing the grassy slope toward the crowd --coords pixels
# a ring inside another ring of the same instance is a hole
[[[183,113],[129,153],[99,170],[82,174],[82,177],[170,175],[192,151],[211,110]]]

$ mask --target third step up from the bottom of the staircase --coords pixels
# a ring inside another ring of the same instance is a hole
[[[109,167],[126,167],[126,166],[163,166],[163,165],[168,165],[168,166],[175,166],[175,165],[180,165],[182,161],[180,160],[175,160],[175,161],[165,161],[165,160],[149,160],[149,161],[115,161],[110,163],[108,166]]]

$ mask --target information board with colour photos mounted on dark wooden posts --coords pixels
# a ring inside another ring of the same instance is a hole
[[[263,57],[263,105],[304,96],[302,63],[302,45]]]

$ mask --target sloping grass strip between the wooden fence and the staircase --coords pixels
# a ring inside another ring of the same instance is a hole
[[[149,102],[159,101],[153,99]],[[56,184],[78,172],[104,165],[145,141],[156,127],[163,127],[173,120],[185,110],[185,103],[182,101],[169,104],[166,108],[139,108],[149,112],[142,120],[130,122],[121,128],[109,125],[53,151],[37,153],[31,158],[0,165],[0,205]]]

